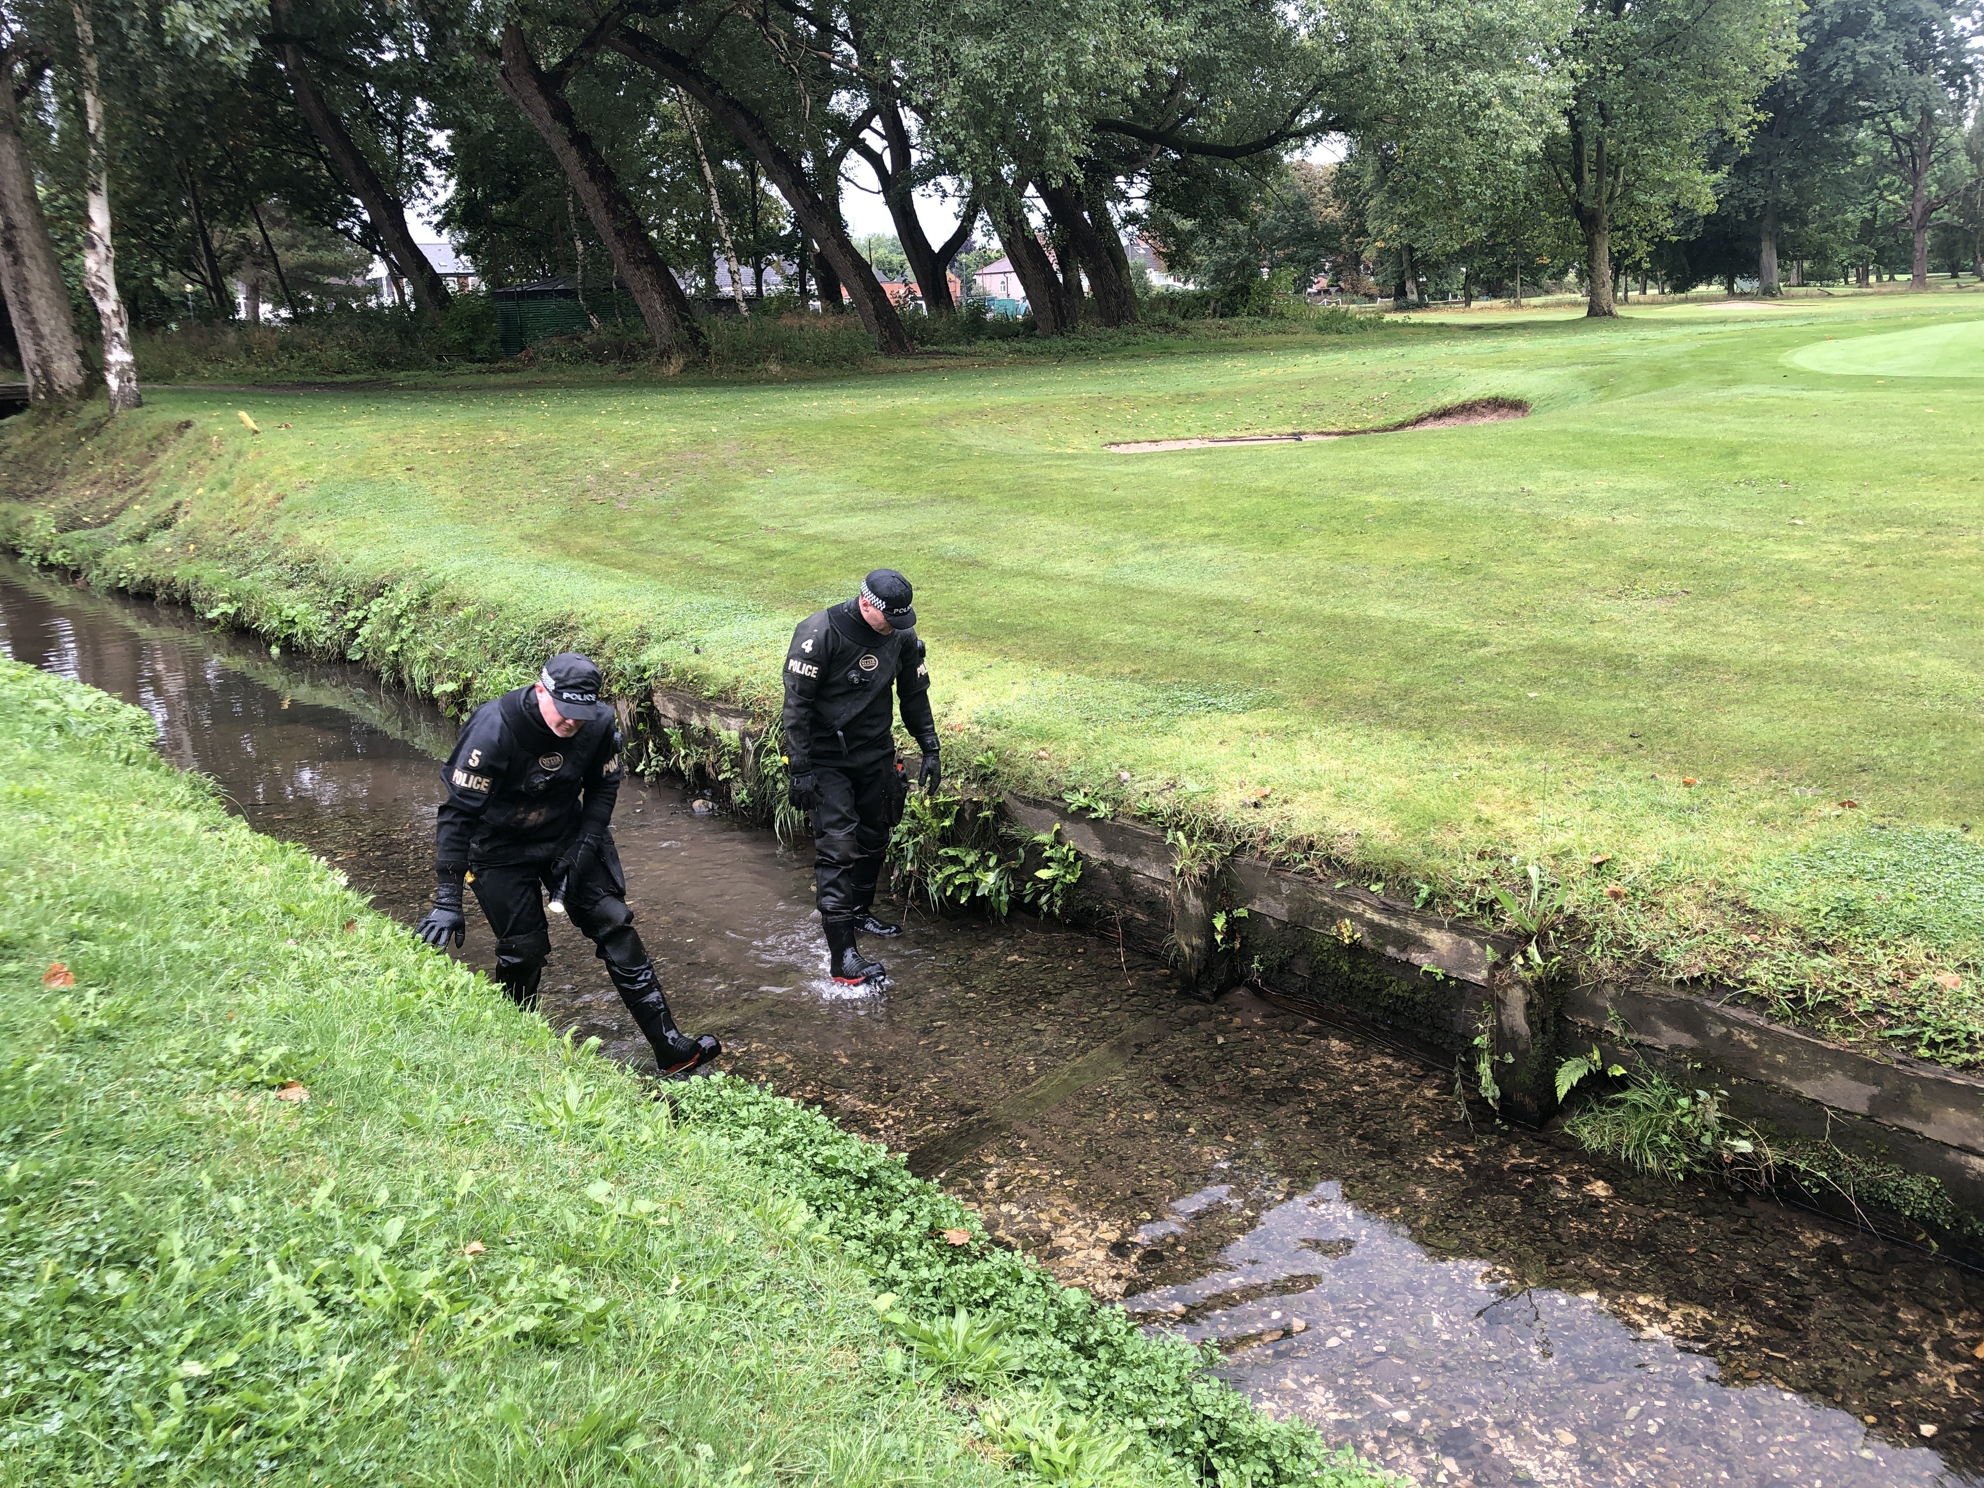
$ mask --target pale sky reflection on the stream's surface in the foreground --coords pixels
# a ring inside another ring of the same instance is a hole
[[[1175,1202],[1171,1224],[1230,1192]],[[1426,1482],[1972,1482],[1843,1411],[1720,1385],[1712,1361],[1627,1327],[1597,1294],[1516,1290],[1482,1262],[1434,1260],[1337,1182],[1274,1202],[1212,1274],[1123,1305],[1216,1341],[1238,1389]]]

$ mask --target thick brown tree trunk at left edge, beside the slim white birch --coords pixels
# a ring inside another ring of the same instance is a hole
[[[16,67],[12,52],[0,50],[0,292],[14,321],[28,401],[52,409],[81,395],[83,347],[20,135]]]

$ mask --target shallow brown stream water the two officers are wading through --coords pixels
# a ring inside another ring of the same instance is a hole
[[[345,667],[0,567],[0,651],[149,708],[405,921],[452,726]],[[1984,1484],[1984,1278],[1798,1210],[1498,1129],[1452,1075],[1012,919],[909,915],[883,994],[825,980],[806,863],[629,784],[615,835],[684,1028],[913,1153],[1008,1244],[1216,1339],[1272,1411],[1423,1482]],[[554,923],[548,1014],[647,1050]],[[470,919],[466,958],[490,938]],[[1932,1428],[1932,1436],[1922,1432]]]

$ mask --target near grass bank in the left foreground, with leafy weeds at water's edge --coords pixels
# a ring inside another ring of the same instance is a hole
[[[823,1117],[657,1103],[151,744],[0,663],[0,1482],[1377,1482]]]

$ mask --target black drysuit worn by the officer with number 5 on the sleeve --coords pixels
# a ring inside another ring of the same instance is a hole
[[[496,980],[518,1002],[538,996],[552,954],[540,885],[579,837],[597,839],[565,885],[565,913],[593,942],[629,1008],[653,986],[655,968],[633,929],[627,879],[607,823],[619,800],[619,730],[599,718],[571,738],[554,734],[528,686],[470,714],[440,768],[448,788],[434,825],[434,871],[470,887],[496,932]]]

